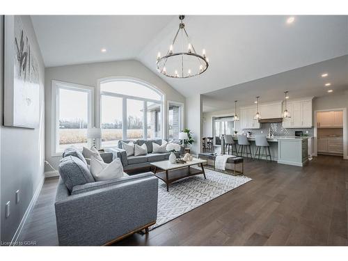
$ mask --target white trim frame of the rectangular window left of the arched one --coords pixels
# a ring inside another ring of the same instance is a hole
[[[58,89],[65,88],[67,90],[83,90],[88,93],[88,128],[94,126],[94,87],[92,86],[84,86],[81,84],[72,84],[65,81],[56,81],[52,80],[52,126],[51,126],[51,156],[59,157],[62,155],[61,152],[56,152],[57,140],[58,140],[58,121],[59,121],[59,108],[58,108]]]

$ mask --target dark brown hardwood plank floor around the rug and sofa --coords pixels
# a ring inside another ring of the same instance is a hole
[[[117,245],[348,245],[348,161],[324,156],[304,168],[247,160],[253,181]],[[57,245],[56,178],[45,180],[19,240]]]

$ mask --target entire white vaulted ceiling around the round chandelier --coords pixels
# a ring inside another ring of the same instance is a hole
[[[191,42],[209,57],[191,79],[159,75],[189,97],[348,54],[348,16],[187,16]],[[135,58],[155,70],[173,40],[177,16],[32,16],[45,65]],[[102,54],[101,48],[107,52]]]

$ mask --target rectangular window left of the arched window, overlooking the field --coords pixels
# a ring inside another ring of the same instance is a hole
[[[93,126],[93,88],[52,81],[54,144],[52,154],[59,155],[74,145],[86,146],[86,131]]]

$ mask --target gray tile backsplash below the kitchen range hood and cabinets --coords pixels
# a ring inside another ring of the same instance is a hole
[[[274,136],[295,136],[295,131],[302,131],[303,134],[306,134],[308,131],[308,136],[314,136],[314,128],[298,128],[298,129],[286,129],[283,128],[282,122],[274,123],[261,123],[260,129],[243,129],[244,132],[251,132],[251,135],[264,134],[268,135],[269,128],[271,132],[274,133]]]

